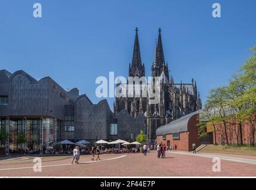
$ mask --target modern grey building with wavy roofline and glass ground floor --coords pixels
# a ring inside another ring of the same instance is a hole
[[[114,115],[106,100],[94,105],[77,88],[66,91],[50,77],[38,81],[6,70],[0,71],[0,126],[8,134],[6,154],[25,148],[43,154],[64,139],[130,140],[146,130],[143,117]]]

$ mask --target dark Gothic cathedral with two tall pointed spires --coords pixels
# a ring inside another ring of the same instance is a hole
[[[129,77],[146,77],[145,67],[141,62],[137,28],[135,29],[132,62],[129,64]],[[126,109],[132,118],[143,114],[148,143],[155,143],[156,129],[159,126],[168,124],[202,107],[196,81],[192,78],[191,83],[174,83],[174,78],[169,74],[168,63],[164,57],[160,28],[158,30],[158,41],[155,43],[151,77],[161,78],[158,103],[149,103],[150,97],[142,97],[142,93],[140,93],[140,96],[116,97],[113,110],[115,115],[118,115],[121,110]],[[128,80],[127,84],[129,84]]]

